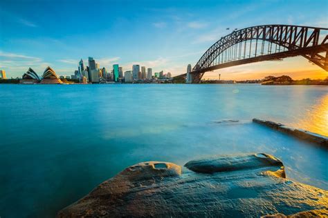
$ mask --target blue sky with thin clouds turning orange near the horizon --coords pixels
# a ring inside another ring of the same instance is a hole
[[[133,64],[180,75],[231,30],[262,24],[328,28],[328,1],[78,1],[0,0],[0,70],[21,77],[29,67],[42,75],[73,75],[78,61],[101,67]],[[230,28],[230,30],[226,30]],[[303,57],[264,61],[206,72],[203,78],[324,79],[328,72]]]

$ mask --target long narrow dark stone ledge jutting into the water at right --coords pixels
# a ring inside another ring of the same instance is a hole
[[[293,137],[297,137],[298,139],[309,141],[311,143],[316,143],[320,146],[323,146],[324,148],[328,148],[328,137],[325,137],[323,135],[319,135],[314,132],[309,132],[307,130],[291,128],[289,126],[284,126],[282,123],[275,123],[273,121],[267,121],[264,119],[254,118],[253,122],[268,126],[270,128],[273,128],[274,130],[284,132],[288,135],[292,135]]]

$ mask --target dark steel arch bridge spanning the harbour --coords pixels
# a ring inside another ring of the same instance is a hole
[[[302,56],[328,71],[328,28],[262,25],[234,30],[214,43],[190,72],[199,83],[205,72],[258,61]]]

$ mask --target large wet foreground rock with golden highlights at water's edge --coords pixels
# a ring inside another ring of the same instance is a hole
[[[285,179],[282,161],[271,155],[221,156],[185,167],[130,166],[58,217],[261,217],[327,209],[327,191]]]

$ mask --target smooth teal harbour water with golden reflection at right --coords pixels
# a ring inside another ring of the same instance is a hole
[[[242,152],[328,189],[327,150],[251,122],[328,135],[324,86],[0,85],[0,97],[0,217],[53,217],[140,161]]]

